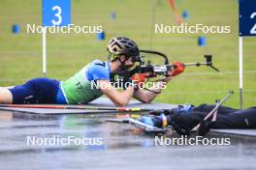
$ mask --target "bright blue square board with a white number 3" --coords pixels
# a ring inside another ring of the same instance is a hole
[[[71,0],[43,0],[43,26],[71,24]]]

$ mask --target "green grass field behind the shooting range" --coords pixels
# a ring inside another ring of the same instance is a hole
[[[134,39],[142,49],[149,46],[153,0],[73,0],[73,23],[103,25],[107,40],[98,42],[95,34],[48,35],[48,77],[64,79],[79,71],[86,63],[98,58],[106,60],[106,45],[113,36]],[[239,107],[239,48],[237,0],[179,0],[179,13],[189,12],[188,24],[230,25],[231,34],[207,34],[207,46],[197,45],[197,34],[154,34],[152,48],[168,54],[171,61],[203,61],[203,55],[213,54],[214,64],[222,73],[208,68],[187,68],[186,73],[173,78],[168,88],[156,100],[170,103],[213,103],[233,89],[235,95],[227,101]],[[115,11],[117,19],[110,14]],[[41,24],[41,0],[2,0],[0,5],[0,86],[23,83],[42,76],[42,35],[25,33],[27,23]],[[155,22],[174,25],[174,14],[168,0],[159,0]],[[21,33],[13,35],[13,23]],[[255,38],[243,39],[244,106],[256,103]]]

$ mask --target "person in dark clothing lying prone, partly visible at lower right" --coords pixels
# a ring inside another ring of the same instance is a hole
[[[183,135],[189,135],[186,132],[200,123],[200,135],[207,134],[209,128],[256,128],[256,107],[234,109],[220,106],[215,121],[212,121],[212,117],[209,117],[208,121],[204,121],[214,107],[215,105],[208,104],[201,104],[197,107],[179,105],[171,110],[158,111],[157,114],[161,114],[161,116],[144,116],[140,118],[140,121],[158,128],[173,126],[177,133]]]

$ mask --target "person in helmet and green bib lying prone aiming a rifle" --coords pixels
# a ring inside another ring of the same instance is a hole
[[[125,106],[132,98],[142,102],[150,102],[174,76],[184,70],[183,64],[176,62],[176,69],[170,72],[158,85],[142,90],[137,83],[144,82],[143,76],[125,79],[128,83],[124,91],[119,92],[112,86],[112,74],[128,71],[140,60],[138,45],[127,38],[112,38],[108,45],[109,62],[95,60],[86,65],[78,73],[64,81],[49,78],[35,78],[12,89],[0,89],[0,103],[54,103],[84,104],[106,95],[116,106]],[[96,86],[92,86],[96,84]],[[127,85],[127,84],[126,84]],[[108,87],[108,88],[106,88]]]

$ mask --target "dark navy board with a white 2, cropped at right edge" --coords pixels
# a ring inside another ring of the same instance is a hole
[[[256,0],[240,0],[240,36],[256,36]]]

